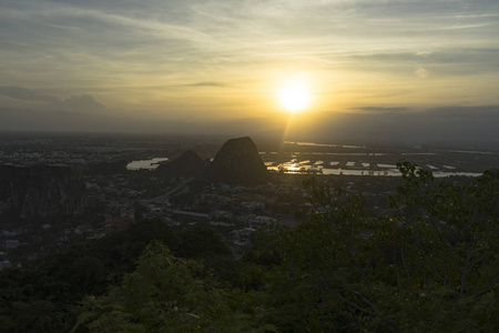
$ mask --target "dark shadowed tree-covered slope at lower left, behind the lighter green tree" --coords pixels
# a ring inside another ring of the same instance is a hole
[[[184,258],[234,261],[213,230],[174,232],[161,221],[142,221],[103,239],[74,244],[37,269],[0,272],[0,332],[69,332],[82,311],[81,300],[119,285],[153,240]]]

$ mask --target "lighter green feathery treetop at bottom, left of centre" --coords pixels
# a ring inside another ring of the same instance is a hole
[[[257,300],[153,242],[120,286],[85,299],[79,325],[91,332],[271,332]]]

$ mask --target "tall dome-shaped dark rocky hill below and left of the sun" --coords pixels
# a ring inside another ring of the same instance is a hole
[[[267,182],[267,168],[249,138],[232,139],[224,143],[206,171],[211,181],[257,185]]]

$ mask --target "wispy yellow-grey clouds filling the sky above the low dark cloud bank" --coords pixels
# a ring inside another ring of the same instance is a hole
[[[467,0],[3,0],[0,94],[220,120],[273,110],[276,82],[306,72],[320,112],[496,104],[498,16],[498,1]]]

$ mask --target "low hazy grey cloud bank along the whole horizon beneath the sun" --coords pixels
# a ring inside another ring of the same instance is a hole
[[[71,100],[71,99],[69,99]],[[92,104],[86,99],[78,103]],[[397,142],[425,143],[498,141],[499,105],[446,105],[413,111],[405,107],[370,105],[363,112],[325,113],[297,119],[289,128],[289,140],[324,142]],[[297,115],[299,117],[299,115]],[[183,134],[276,134],[286,128],[287,119],[241,118],[215,121],[201,119],[151,119],[140,114],[109,112],[81,113],[38,111],[0,107],[0,130],[169,132]]]

